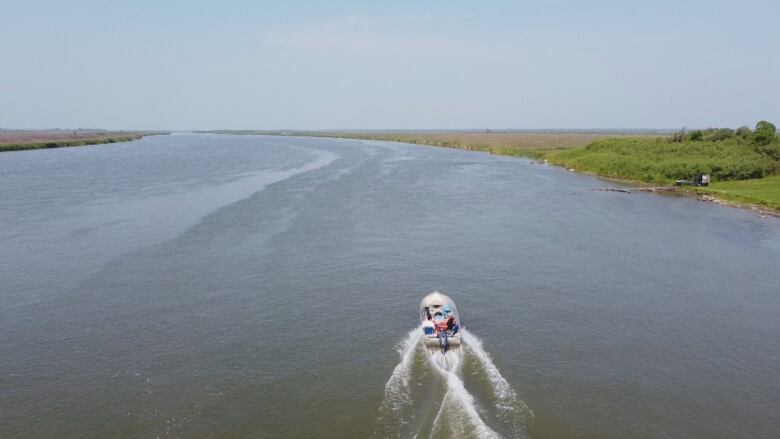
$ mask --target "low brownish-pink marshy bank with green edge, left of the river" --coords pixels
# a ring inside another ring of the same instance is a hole
[[[0,131],[0,152],[131,142],[145,136],[161,134],[168,133],[162,131],[3,130]]]

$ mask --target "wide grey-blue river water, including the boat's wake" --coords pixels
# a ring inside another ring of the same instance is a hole
[[[357,140],[2,153],[0,437],[777,437],[780,221],[610,186]]]

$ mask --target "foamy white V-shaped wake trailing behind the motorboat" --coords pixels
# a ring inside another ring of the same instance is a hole
[[[461,348],[442,354],[415,328],[398,353],[374,437],[527,437],[533,413],[475,335],[463,330]]]

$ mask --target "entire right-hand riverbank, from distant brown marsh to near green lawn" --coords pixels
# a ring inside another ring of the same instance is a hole
[[[748,128],[679,132],[220,131],[381,140],[521,156],[636,184],[671,186],[710,174],[708,188],[682,189],[780,212],[780,143]]]

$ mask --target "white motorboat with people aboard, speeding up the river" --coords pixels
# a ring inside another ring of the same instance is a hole
[[[452,321],[448,323],[450,317]],[[425,347],[440,349],[444,354],[461,344],[461,322],[455,302],[438,291],[420,302],[420,324]]]

